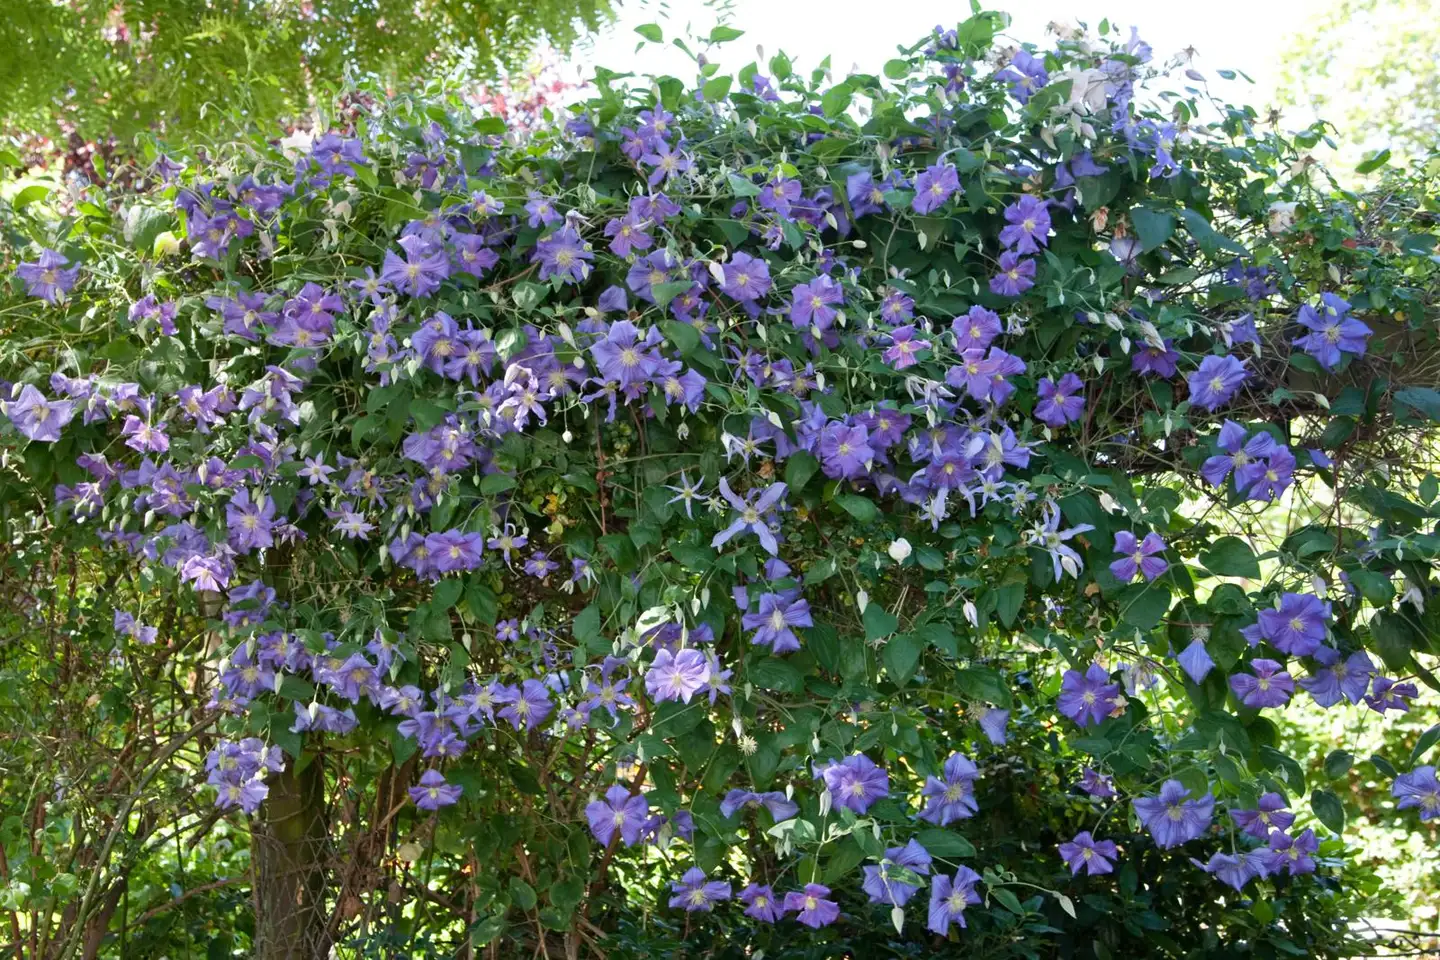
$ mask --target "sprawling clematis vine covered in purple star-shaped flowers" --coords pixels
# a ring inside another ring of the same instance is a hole
[[[1440,688],[1426,173],[1004,24],[16,212],[14,938],[1361,950],[1346,783],[1433,830],[1440,728],[1272,718]]]

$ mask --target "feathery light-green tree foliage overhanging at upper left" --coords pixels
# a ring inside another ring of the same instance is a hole
[[[608,0],[16,0],[0,17],[0,121],[82,135],[258,125],[347,79],[492,78],[569,49]]]

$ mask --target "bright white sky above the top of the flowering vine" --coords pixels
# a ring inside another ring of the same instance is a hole
[[[969,16],[965,0],[732,0],[729,6],[733,14],[727,22],[746,32],[740,40],[721,47],[732,50],[723,65],[733,69],[753,59],[759,43],[766,58],[783,47],[801,68],[814,66],[829,53],[837,73],[851,66],[878,73],[897,45],[913,43],[936,23],[953,27]],[[1051,20],[1084,20],[1093,29],[1109,17],[1126,35],[1135,24],[1155,47],[1156,59],[1194,46],[1195,68],[1207,75],[1217,92],[1238,102],[1266,102],[1280,52],[1305,27],[1306,13],[1322,9],[1323,0],[989,0],[984,6],[1008,12],[1014,20],[1009,36],[1037,45],[1053,40],[1045,36],[1045,24]],[[704,35],[717,22],[717,13],[701,0],[622,0],[618,24],[596,36],[593,46],[577,52],[575,59],[582,66],[603,63],[611,69],[670,72],[688,79],[693,68],[668,43],[684,36],[687,26]],[[641,37],[635,27],[642,23],[658,23],[667,46],[647,45],[636,53],[635,43]],[[1243,81],[1227,88],[1214,73],[1221,68],[1244,71],[1256,81],[1256,88]]]

